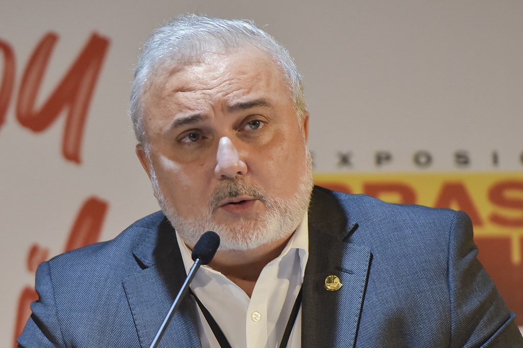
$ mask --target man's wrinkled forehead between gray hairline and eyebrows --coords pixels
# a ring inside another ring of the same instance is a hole
[[[148,104],[161,108],[166,117],[178,115],[177,120],[167,123],[167,128],[173,129],[209,119],[209,108],[235,112],[274,108],[273,101],[279,99],[292,101],[279,66],[263,53],[247,49],[231,56],[210,55],[191,64],[164,66],[149,81],[154,91],[150,90]]]

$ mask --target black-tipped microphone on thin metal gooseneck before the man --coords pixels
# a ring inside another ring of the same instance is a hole
[[[211,262],[219,246],[220,236],[218,236],[218,234],[214,231],[207,231],[200,237],[200,239],[198,239],[195,247],[192,249],[191,254],[192,260],[195,263],[192,265],[189,273],[187,274],[187,278],[185,279],[184,284],[181,285],[180,291],[178,292],[178,295],[176,295],[173,305],[170,306],[167,316],[162,322],[160,330],[158,330],[156,333],[150,348],[156,348],[158,344],[160,344],[160,340],[162,339],[165,330],[167,330],[167,326],[169,326],[170,320],[173,319],[181,299],[185,297],[187,291],[189,290],[189,284],[195,277],[196,271],[198,271],[202,264],[208,264]]]

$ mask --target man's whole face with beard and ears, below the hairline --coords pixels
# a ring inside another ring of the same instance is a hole
[[[158,201],[189,245],[208,229],[222,249],[288,237],[312,187],[305,117],[286,80],[253,47],[209,54],[166,70],[145,87],[144,119]]]

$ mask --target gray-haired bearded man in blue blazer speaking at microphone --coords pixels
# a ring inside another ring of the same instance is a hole
[[[20,346],[149,346],[206,230],[160,346],[523,346],[466,215],[313,189],[301,77],[249,22],[157,29],[130,113],[162,212],[40,265]]]

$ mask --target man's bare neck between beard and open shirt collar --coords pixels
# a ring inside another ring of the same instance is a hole
[[[281,254],[291,236],[255,249],[218,251],[209,265],[251,297],[261,271]]]

